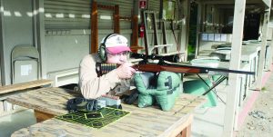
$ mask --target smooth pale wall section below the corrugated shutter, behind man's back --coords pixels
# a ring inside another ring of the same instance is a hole
[[[89,53],[89,35],[45,35],[47,73],[76,68]]]

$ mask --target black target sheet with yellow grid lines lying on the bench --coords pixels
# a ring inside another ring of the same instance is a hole
[[[128,113],[129,112],[123,110],[105,107],[92,113],[67,113],[64,115],[56,116],[56,119],[66,122],[79,123],[86,125],[87,127],[100,129],[111,122],[116,122],[116,120],[126,116]]]

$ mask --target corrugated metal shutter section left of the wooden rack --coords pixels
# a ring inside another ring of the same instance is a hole
[[[45,0],[45,29],[90,27],[90,0]]]

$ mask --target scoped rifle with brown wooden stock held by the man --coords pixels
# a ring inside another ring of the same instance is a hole
[[[134,58],[142,58],[143,61],[139,62],[139,64],[135,64],[132,67],[136,69],[136,71],[141,72],[151,72],[158,73],[162,71],[173,72],[173,73],[219,73],[219,74],[227,74],[227,73],[242,73],[242,74],[255,74],[254,72],[248,71],[238,71],[238,70],[230,70],[227,68],[214,68],[207,66],[196,66],[189,63],[171,63],[174,62],[175,59],[172,56],[160,56],[160,55],[145,55],[145,54],[131,54],[131,57]],[[158,60],[158,63],[149,63],[148,59]],[[170,62],[168,62],[170,61]],[[116,69],[118,64],[96,64],[96,72],[98,76],[108,73],[113,69]]]

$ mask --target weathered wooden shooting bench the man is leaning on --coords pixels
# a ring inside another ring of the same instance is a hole
[[[122,104],[123,110],[130,113],[101,129],[54,118],[67,113],[67,100],[78,95],[80,93],[51,87],[9,97],[7,100],[10,103],[35,109],[35,113],[43,113],[43,116],[36,114],[40,121],[48,119],[16,131],[12,136],[190,136],[193,110],[205,102],[203,97],[181,94],[169,112],[163,112],[157,107],[138,108],[136,105]]]

